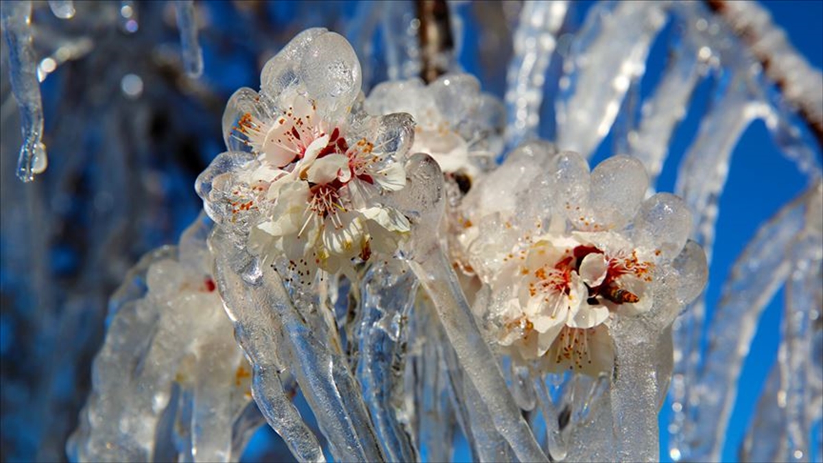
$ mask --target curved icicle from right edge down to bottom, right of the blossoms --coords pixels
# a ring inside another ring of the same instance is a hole
[[[814,185],[785,206],[760,227],[734,264],[709,325],[709,349],[695,391],[699,414],[694,428],[685,430],[694,454],[684,457],[718,461],[757,320],[788,277],[794,238],[804,226],[807,209],[820,204],[821,194],[821,185]]]

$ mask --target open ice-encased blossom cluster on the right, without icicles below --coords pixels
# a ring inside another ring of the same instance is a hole
[[[509,178],[528,169],[541,174]],[[635,159],[613,157],[590,172],[577,153],[532,143],[467,195],[470,226],[459,241],[491,287],[481,315],[514,358],[548,370],[611,369],[610,320],[653,312],[663,275],[676,284],[672,260],[690,230],[681,199],[644,200],[647,186]],[[524,207],[504,208],[500,198]]]

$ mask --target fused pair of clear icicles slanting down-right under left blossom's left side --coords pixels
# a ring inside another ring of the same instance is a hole
[[[305,423],[292,421],[295,414],[282,413],[277,370],[278,365],[289,365],[335,459],[384,461],[328,309],[301,304],[298,311],[278,274],[264,276],[259,261],[232,240],[219,227],[210,238],[216,278],[235,322],[235,336],[253,361],[255,400],[272,428],[295,433],[284,440],[301,461],[323,461]]]

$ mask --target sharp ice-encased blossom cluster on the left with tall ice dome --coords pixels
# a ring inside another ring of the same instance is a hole
[[[230,152],[198,179],[209,215],[265,261],[336,272],[393,252],[409,224],[384,195],[405,185],[414,125],[366,115],[361,101],[351,45],[324,29],[297,35],[266,63],[261,90],[226,106]]]

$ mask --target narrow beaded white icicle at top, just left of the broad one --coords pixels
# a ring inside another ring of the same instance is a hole
[[[557,45],[569,2],[524,2],[514,31],[514,56],[506,77],[506,110],[509,124],[506,143],[515,147],[537,136],[546,68]]]

